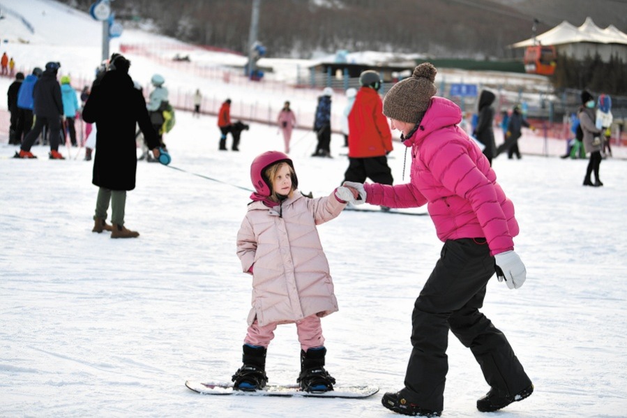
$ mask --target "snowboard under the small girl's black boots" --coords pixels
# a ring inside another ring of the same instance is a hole
[[[368,398],[379,391],[376,386],[334,386],[333,391],[305,392],[299,385],[266,385],[264,389],[257,391],[234,390],[232,383],[202,383],[188,380],[186,387],[203,395],[238,395],[238,396],[300,396],[303,398],[344,398],[359,399]]]

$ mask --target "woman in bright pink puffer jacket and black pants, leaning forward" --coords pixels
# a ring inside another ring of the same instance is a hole
[[[513,251],[518,234],[513,204],[477,145],[458,127],[460,107],[435,97],[437,70],[430,63],[386,94],[383,112],[411,152],[408,184],[353,184],[361,201],[387,207],[428,205],[441,257],[412,315],[414,346],[405,387],[384,394],[384,407],[405,415],[439,417],[448,371],[448,331],[471,349],[490,391],[477,401],[482,412],[531,395],[534,385],[504,334],[479,311],[488,280],[497,272],[508,288],[520,288],[526,270]]]

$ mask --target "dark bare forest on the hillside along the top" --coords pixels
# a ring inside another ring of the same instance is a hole
[[[93,0],[63,0],[89,10]],[[310,58],[337,50],[429,57],[511,58],[508,45],[562,20],[627,26],[627,3],[598,0],[262,0],[259,41],[268,57]],[[116,0],[116,19],[151,24],[188,43],[247,53],[252,0]],[[582,6],[582,7],[579,7]],[[582,10],[586,10],[585,12]],[[521,52],[518,51],[518,54]]]

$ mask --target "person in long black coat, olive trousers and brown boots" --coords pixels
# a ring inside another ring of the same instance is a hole
[[[96,157],[91,182],[98,186],[93,232],[110,230],[112,238],[135,238],[139,232],[124,227],[126,191],[135,188],[137,145],[135,127],[144,134],[149,149],[159,157],[159,140],[142,92],[128,75],[130,61],[119,55],[98,82],[94,82],[83,109],[83,120],[96,124]],[[111,222],[107,210],[111,203]]]

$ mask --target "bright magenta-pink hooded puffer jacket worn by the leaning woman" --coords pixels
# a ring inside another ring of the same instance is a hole
[[[433,97],[420,126],[404,144],[411,147],[409,184],[365,184],[367,202],[428,211],[441,241],[485,237],[492,255],[513,249],[518,235],[514,206],[488,159],[457,125],[460,107]]]

